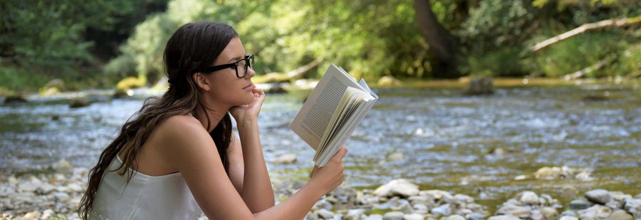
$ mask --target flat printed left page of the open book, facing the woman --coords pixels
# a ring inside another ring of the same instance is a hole
[[[348,86],[366,91],[349,74],[330,65],[292,121],[290,129],[314,150],[317,150],[331,116]]]

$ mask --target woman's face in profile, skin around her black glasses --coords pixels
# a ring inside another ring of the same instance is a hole
[[[227,47],[213,62],[212,66],[224,65],[228,63],[235,63],[246,56],[245,49],[238,37],[232,38]],[[238,74],[242,75],[244,72],[243,64],[241,61],[238,65]],[[254,84],[251,83],[251,77],[256,75],[253,67],[247,68],[247,74],[238,78],[236,70],[233,68],[224,68],[210,74],[202,74],[208,83],[209,90],[205,91],[213,103],[224,104],[226,106],[240,106],[246,105],[254,100]]]

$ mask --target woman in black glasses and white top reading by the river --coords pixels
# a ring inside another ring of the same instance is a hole
[[[101,153],[82,219],[303,219],[342,183],[345,148],[274,206],[256,120],[265,93],[251,83],[253,56],[231,27],[182,26],[164,62],[169,90],[147,99]]]

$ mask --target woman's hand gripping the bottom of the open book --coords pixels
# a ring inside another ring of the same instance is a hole
[[[338,152],[329,159],[327,164],[322,168],[314,165],[312,173],[310,174],[310,182],[315,188],[322,191],[323,194],[328,194],[338,185],[343,183],[343,171],[345,167],[343,166],[343,157],[347,153],[347,148],[341,146],[338,149]]]

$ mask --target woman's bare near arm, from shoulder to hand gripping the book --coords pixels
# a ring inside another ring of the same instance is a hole
[[[303,219],[321,196],[343,181],[341,160],[347,152],[345,148],[323,168],[315,167],[308,184],[288,200],[252,214],[231,184],[212,138],[198,120],[172,116],[157,129],[165,143],[160,146],[161,156],[181,172],[198,205],[210,219]],[[246,184],[249,182],[244,182]]]

